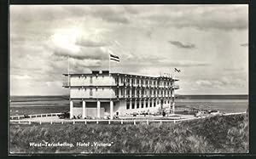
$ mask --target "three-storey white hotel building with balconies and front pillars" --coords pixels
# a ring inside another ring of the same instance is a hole
[[[70,90],[70,117],[93,116],[102,118],[126,116],[140,112],[157,112],[161,108],[174,111],[172,77],[146,77],[109,71],[90,74],[64,74]]]

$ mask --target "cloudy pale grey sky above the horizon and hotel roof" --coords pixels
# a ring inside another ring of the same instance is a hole
[[[63,95],[71,73],[179,79],[177,94],[248,94],[247,5],[11,5],[10,94]],[[174,68],[181,72],[174,73]]]

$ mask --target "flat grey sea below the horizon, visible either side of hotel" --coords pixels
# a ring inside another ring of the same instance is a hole
[[[217,110],[224,113],[248,109],[247,95],[177,95],[176,109]],[[10,116],[69,111],[68,96],[11,96]]]

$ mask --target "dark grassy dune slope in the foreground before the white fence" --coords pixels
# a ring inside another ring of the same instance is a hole
[[[30,147],[29,142],[113,142],[111,147]],[[247,152],[247,115],[138,125],[11,125],[12,152],[212,153]]]

